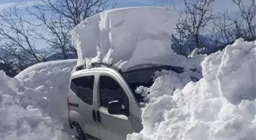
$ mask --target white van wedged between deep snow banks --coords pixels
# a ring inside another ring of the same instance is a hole
[[[132,67],[121,72],[116,67],[95,63],[72,73],[69,82],[69,124],[79,140],[125,140],[126,135],[142,130],[142,95],[139,86],[150,87],[155,71],[183,68],[152,64]]]

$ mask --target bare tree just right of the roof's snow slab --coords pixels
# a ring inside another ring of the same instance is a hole
[[[173,48],[187,56],[195,48],[206,53],[212,41],[216,41],[213,28],[213,3],[215,0],[182,0],[177,33],[173,34]],[[179,48],[179,49],[177,49]],[[198,49],[199,48],[199,49]]]

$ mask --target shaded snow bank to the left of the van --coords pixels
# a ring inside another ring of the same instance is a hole
[[[69,139],[62,120],[67,122],[66,91],[75,64],[36,64],[14,79],[1,71],[0,139]]]

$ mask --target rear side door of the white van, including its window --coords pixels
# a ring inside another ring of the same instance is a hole
[[[82,76],[72,79],[72,91],[78,97],[78,112],[81,114],[79,125],[82,127],[87,138],[100,138],[98,122],[95,119],[95,108],[97,102],[94,101],[94,73],[82,73]]]

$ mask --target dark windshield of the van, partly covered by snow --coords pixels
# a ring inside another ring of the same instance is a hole
[[[136,97],[136,100],[140,103],[143,101],[143,97],[140,94],[137,94],[135,91],[139,86],[150,87],[153,85],[153,76],[155,76],[155,71],[161,70],[172,70],[177,73],[182,73],[182,67],[172,67],[172,66],[158,66],[158,67],[149,67],[142,68],[139,70],[130,70],[124,73],[121,73],[123,78],[126,80],[127,84],[130,86],[130,89],[133,91],[133,95]]]

